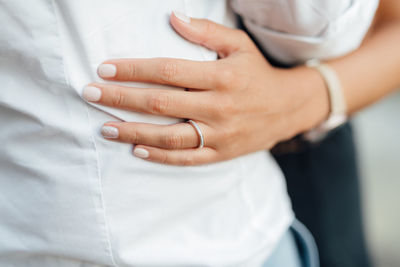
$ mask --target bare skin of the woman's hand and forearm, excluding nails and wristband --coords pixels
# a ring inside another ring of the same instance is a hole
[[[135,112],[190,118],[188,123],[154,125],[107,122],[135,144],[134,155],[172,165],[199,165],[270,149],[277,142],[312,129],[329,114],[328,93],[320,74],[304,66],[272,67],[241,30],[204,19],[189,23],[174,14],[170,23],[190,42],[216,51],[219,60],[114,59],[111,81],[168,84],[187,91],[93,83],[102,92],[98,104]],[[381,1],[375,26],[355,52],[325,62],[337,73],[349,115],[390,93],[400,84],[400,1]],[[139,149],[139,150],[138,150]],[[148,153],[135,153],[143,152]]]

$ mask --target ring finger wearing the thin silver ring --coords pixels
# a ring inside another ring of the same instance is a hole
[[[203,135],[212,136],[206,125],[198,124]],[[101,133],[107,139],[164,149],[186,149],[199,146],[196,131],[186,122],[173,125],[109,122],[104,124]],[[205,141],[205,145],[212,145],[211,139]]]

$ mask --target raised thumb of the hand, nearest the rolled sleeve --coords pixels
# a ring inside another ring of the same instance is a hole
[[[222,58],[241,49],[248,39],[243,31],[207,19],[190,18],[177,11],[172,12],[170,23],[183,38],[216,51]]]

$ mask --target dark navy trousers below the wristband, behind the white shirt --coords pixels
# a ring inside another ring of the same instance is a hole
[[[275,155],[296,217],[313,234],[321,267],[369,267],[351,126],[299,152]]]

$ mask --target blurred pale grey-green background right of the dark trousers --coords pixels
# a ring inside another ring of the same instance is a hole
[[[365,230],[376,267],[400,266],[400,92],[354,117]]]

